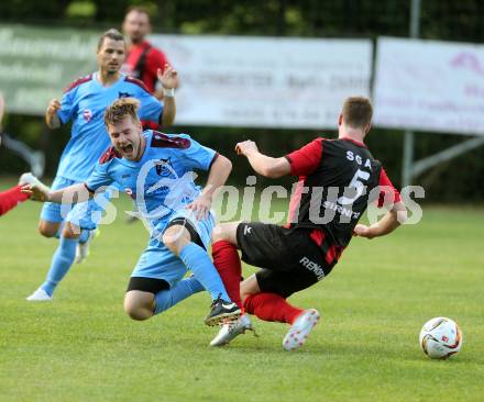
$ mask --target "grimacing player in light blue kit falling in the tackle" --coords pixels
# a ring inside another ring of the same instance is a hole
[[[34,183],[24,191],[40,201],[81,202],[117,183],[136,201],[151,235],[128,286],[125,312],[133,320],[146,320],[205,288],[213,301],[206,324],[233,321],[241,310],[207,253],[215,224],[212,196],[232,165],[186,134],[143,133],[138,103],[125,98],[107,109],[112,146],[85,183],[52,191]],[[209,171],[204,190],[194,182],[194,169]],[[183,279],[187,270],[194,276]]]

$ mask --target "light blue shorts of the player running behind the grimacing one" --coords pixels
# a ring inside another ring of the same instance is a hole
[[[52,183],[52,190],[59,190],[77,185],[77,181],[57,176]],[[102,217],[102,212],[112,197],[112,189],[97,194],[94,199],[78,204],[58,204],[46,202],[42,208],[41,219],[48,222],[70,222],[80,228],[95,230]]]

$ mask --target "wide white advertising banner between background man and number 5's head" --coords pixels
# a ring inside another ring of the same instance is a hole
[[[372,42],[153,35],[180,74],[177,124],[333,129],[369,96]]]

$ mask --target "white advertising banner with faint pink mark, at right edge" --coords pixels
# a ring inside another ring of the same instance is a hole
[[[380,38],[374,124],[484,134],[484,46]]]

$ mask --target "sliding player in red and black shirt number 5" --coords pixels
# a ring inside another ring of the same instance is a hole
[[[212,236],[213,261],[230,298],[261,320],[292,325],[283,340],[286,350],[301,346],[319,321],[317,310],[293,306],[287,298],[328,276],[353,235],[383,236],[406,220],[399,192],[364,144],[372,115],[369,99],[348,98],[338,139],[317,138],[279,158],[262,154],[252,141],[235,146],[257,174],[299,178],[287,225],[226,223]],[[358,224],[374,201],[387,213],[371,226]],[[261,268],[242,283],[238,248],[242,260]],[[224,345],[245,330],[252,330],[246,314],[223,325],[210,345]]]

